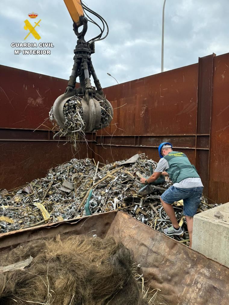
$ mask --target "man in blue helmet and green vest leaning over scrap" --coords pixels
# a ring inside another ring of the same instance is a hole
[[[158,147],[159,156],[155,172],[150,178],[141,178],[141,183],[151,183],[159,178],[159,176],[167,175],[173,181],[170,186],[160,197],[162,206],[169,216],[172,226],[164,229],[166,235],[181,235],[183,233],[178,224],[172,204],[183,199],[184,212],[186,217],[190,247],[192,245],[192,228],[193,216],[197,212],[200,204],[200,197],[203,192],[203,185],[200,176],[197,173],[194,165],[190,163],[188,157],[183,152],[175,152],[172,150],[173,145],[169,142],[164,142]]]

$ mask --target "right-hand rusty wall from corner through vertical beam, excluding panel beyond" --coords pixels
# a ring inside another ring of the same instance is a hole
[[[98,145],[107,149],[105,152],[96,145],[100,160],[105,157],[110,161],[119,160],[132,152],[145,152],[158,161],[159,144],[171,142],[174,149],[186,153],[197,165],[208,195],[208,126],[214,56],[200,58],[197,64],[106,88],[107,98],[117,109],[115,124],[97,133]],[[204,111],[206,105],[208,111]]]

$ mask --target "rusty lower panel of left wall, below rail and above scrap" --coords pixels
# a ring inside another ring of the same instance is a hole
[[[0,188],[7,190],[25,185],[33,179],[45,177],[51,167],[56,167],[72,158],[85,158],[88,150],[81,144],[80,151],[75,155],[71,145],[61,141],[0,141]],[[88,144],[91,147],[91,143]]]

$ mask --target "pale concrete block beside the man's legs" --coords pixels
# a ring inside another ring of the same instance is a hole
[[[229,267],[229,202],[194,216],[192,249]]]

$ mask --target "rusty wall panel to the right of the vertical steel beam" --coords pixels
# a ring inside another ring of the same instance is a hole
[[[213,75],[209,197],[225,203],[229,198],[229,53],[215,57]]]

